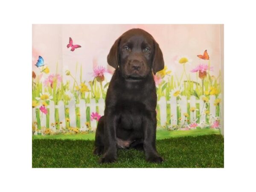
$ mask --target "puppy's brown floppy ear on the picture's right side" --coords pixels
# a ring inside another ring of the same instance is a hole
[[[164,61],[163,61],[163,53],[158,45],[158,43],[154,40],[154,58],[153,58],[153,73],[154,75],[157,71],[163,70]]]

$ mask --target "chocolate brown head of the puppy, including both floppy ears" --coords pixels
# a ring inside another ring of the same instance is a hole
[[[126,79],[143,79],[151,71],[164,68],[162,51],[154,38],[142,29],[131,29],[122,34],[108,54],[108,64],[120,67]]]

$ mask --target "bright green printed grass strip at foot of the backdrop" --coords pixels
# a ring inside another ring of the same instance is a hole
[[[157,130],[157,140],[167,139],[171,137],[184,137],[184,136],[200,136],[207,134],[220,134],[219,130],[215,129],[196,129],[188,131],[167,131],[166,129]],[[69,139],[69,140],[94,140],[95,133],[89,134],[58,134],[58,135],[34,135],[33,139]]]

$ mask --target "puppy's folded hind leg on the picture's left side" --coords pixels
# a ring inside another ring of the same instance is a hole
[[[104,116],[99,119],[95,134],[95,148],[93,153],[102,155],[104,151]]]

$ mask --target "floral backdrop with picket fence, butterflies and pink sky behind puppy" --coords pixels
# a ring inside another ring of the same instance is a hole
[[[113,42],[141,28],[159,43],[165,68],[154,76],[157,128],[220,129],[220,25],[32,26],[32,134],[94,131],[114,69]]]

